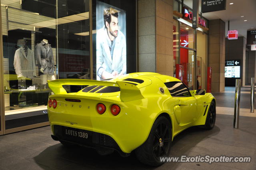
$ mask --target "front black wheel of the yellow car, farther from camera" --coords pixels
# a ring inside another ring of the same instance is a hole
[[[215,106],[215,102],[212,101],[207,112],[204,128],[208,130],[212,129],[215,125],[215,120],[216,120],[216,106]]]

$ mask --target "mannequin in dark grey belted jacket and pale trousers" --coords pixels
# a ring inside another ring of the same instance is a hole
[[[48,40],[43,39],[40,43],[36,44],[35,51],[41,83],[47,84],[47,80],[55,80],[54,58],[52,54],[52,47],[48,43]]]

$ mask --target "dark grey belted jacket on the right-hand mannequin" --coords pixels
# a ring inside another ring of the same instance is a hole
[[[54,75],[54,58],[52,54],[52,47],[49,44],[49,49],[47,45],[41,41],[40,43],[36,44],[36,60],[38,63],[38,68],[44,69],[44,73],[39,71],[40,74],[50,74]]]

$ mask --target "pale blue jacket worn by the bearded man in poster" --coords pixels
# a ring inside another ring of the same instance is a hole
[[[114,45],[114,46],[113,46]],[[113,49],[111,56],[110,48]],[[97,31],[96,34],[96,71],[97,80],[102,80],[102,72],[126,74],[126,40],[124,34],[118,30],[118,35],[113,44],[108,37],[105,26]]]

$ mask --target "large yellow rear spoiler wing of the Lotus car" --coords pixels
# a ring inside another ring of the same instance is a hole
[[[67,94],[66,90],[63,88],[63,85],[116,86],[120,88],[120,100],[122,102],[129,102],[144,98],[137,86],[122,81],[107,82],[85,79],[59,79],[48,81],[48,86],[52,92],[54,92],[54,94]]]

